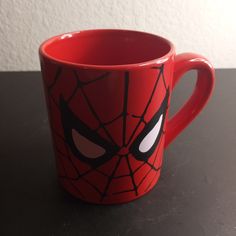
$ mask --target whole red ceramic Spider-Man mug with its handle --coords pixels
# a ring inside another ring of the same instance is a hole
[[[39,49],[60,184],[97,204],[124,203],[157,183],[163,151],[202,110],[214,69],[197,54],[175,54],[157,35],[84,30]],[[198,71],[192,96],[168,119],[171,93]]]

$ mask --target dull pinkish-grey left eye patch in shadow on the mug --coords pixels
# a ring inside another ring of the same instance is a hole
[[[82,136],[72,129],[72,138],[79,152],[88,158],[97,158],[105,154],[106,150]]]

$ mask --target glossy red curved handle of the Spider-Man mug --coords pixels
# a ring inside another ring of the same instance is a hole
[[[172,89],[181,76],[189,70],[197,70],[197,82],[193,94],[180,110],[167,121],[165,147],[198,115],[210,98],[214,84],[215,71],[211,63],[204,57],[183,53],[175,57]]]

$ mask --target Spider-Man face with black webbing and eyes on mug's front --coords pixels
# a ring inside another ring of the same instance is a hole
[[[138,198],[155,185],[169,100],[164,65],[110,72],[58,68],[45,84],[64,188],[106,204]]]

